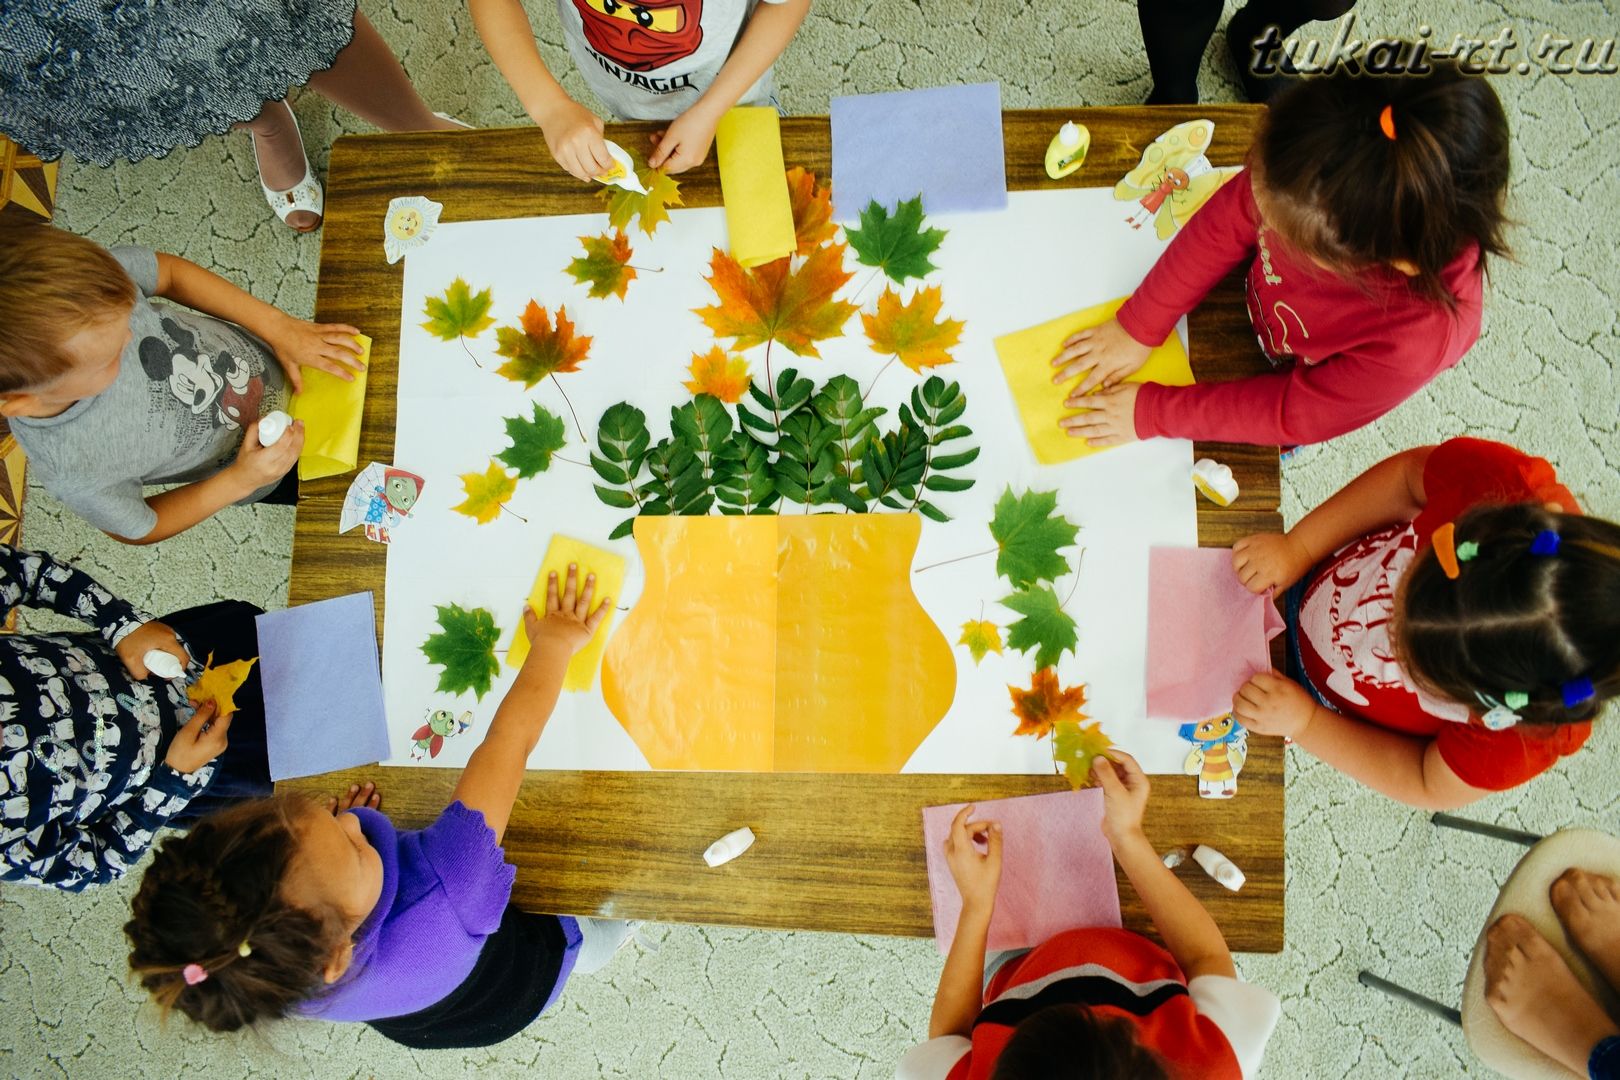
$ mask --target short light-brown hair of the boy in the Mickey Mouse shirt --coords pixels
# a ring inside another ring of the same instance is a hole
[[[40,222],[0,222],[0,393],[73,368],[62,345],[134,304],[134,282],[100,244]]]

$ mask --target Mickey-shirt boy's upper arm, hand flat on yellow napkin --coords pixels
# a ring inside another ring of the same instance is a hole
[[[235,322],[259,337],[275,353],[293,393],[303,389],[300,366],[319,368],[348,381],[353,381],[355,371],[361,368],[358,359],[361,348],[355,340],[360,330],[355,327],[293,319],[219,274],[180,256],[157,253],[157,295],[215,319]]]

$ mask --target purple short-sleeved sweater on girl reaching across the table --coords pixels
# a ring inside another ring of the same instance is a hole
[[[382,857],[382,895],[355,931],[348,972],[298,1006],[298,1014],[321,1020],[408,1015],[446,999],[471,973],[484,939],[501,926],[517,868],[505,861],[483,813],[460,801],[416,832],[400,832],[376,810],[348,813],[360,818],[360,831]],[[569,946],[552,997],[573,967],[577,931]]]

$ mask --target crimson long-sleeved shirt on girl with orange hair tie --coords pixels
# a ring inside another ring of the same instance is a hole
[[[1354,431],[1450,368],[1479,338],[1479,246],[1445,267],[1455,311],[1418,296],[1398,270],[1346,280],[1260,220],[1249,173],[1210,196],[1119,308],[1144,345],[1163,342],[1228,272],[1251,259],[1249,321],[1278,371],[1191,387],[1142,384],[1136,434],[1294,445]]]

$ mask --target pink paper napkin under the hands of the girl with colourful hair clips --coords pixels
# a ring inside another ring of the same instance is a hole
[[[1147,552],[1147,714],[1178,724],[1231,711],[1251,675],[1272,670],[1283,631],[1270,593],[1254,594],[1228,547]]]

